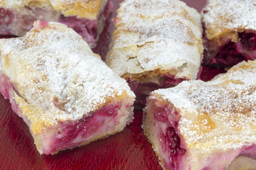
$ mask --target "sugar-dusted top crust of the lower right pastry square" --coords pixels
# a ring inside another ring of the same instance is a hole
[[[191,154],[256,143],[256,61],[241,62],[212,81],[184,81],[152,92],[181,114],[179,133]]]

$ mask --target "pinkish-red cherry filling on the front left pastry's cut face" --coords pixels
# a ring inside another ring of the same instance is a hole
[[[57,134],[52,138],[51,145],[45,150],[45,154],[81,145],[84,142],[89,142],[99,133],[113,130],[111,128],[119,123],[115,118],[117,118],[120,108],[121,103],[108,105],[89,117],[84,116],[74,122],[59,123]]]

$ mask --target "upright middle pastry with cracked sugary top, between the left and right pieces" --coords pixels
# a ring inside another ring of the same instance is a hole
[[[125,0],[106,63],[128,81],[136,103],[151,91],[196,79],[204,51],[201,16],[177,0]]]

